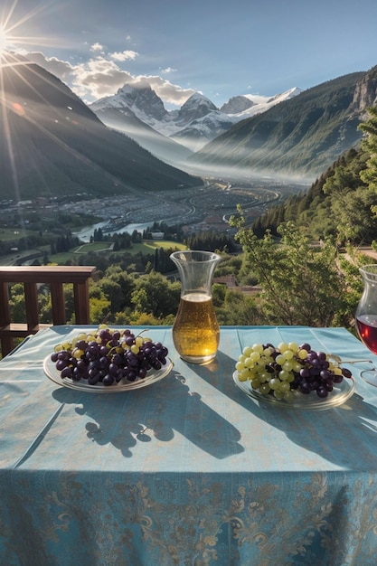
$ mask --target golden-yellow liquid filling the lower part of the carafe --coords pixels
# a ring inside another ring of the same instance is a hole
[[[189,293],[181,297],[173,326],[173,340],[178,354],[188,362],[212,360],[220,341],[212,297],[203,293]]]

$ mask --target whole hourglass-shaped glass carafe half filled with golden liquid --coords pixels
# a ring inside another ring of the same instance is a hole
[[[211,251],[174,251],[170,256],[181,278],[181,300],[173,325],[174,347],[186,362],[215,357],[220,328],[212,303],[212,279],[220,256]]]

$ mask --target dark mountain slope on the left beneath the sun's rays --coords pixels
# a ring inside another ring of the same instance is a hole
[[[61,80],[24,58],[1,62],[0,198],[203,184],[106,127]]]

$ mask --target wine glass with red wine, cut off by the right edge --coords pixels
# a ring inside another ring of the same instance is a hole
[[[359,336],[373,354],[377,354],[377,264],[359,269],[363,277],[363,295],[356,309],[356,326]],[[377,370],[363,370],[363,380],[377,387]]]

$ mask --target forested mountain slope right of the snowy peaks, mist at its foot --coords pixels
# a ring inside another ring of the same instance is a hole
[[[357,146],[362,137],[358,124],[376,97],[377,67],[328,80],[242,120],[188,162],[203,172],[217,169],[219,175],[222,171],[313,181]]]

